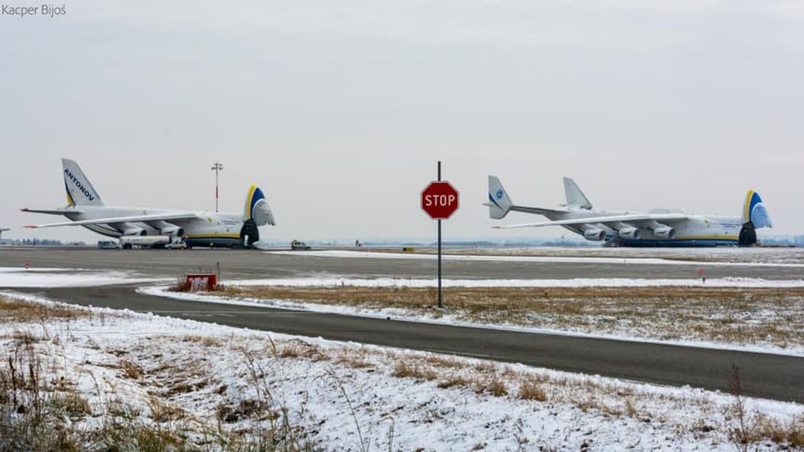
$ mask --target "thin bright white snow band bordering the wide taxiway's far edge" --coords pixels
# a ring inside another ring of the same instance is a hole
[[[477,250],[473,250],[477,251]],[[265,253],[285,254],[297,257],[338,257],[363,259],[436,259],[431,253],[385,253],[381,251],[352,251],[347,249],[324,249],[317,251],[266,251]],[[444,254],[445,261],[497,261],[497,262],[548,262],[548,263],[591,263],[610,265],[707,265],[707,266],[762,266],[804,268],[804,263],[767,261],[692,261],[659,257],[605,257],[605,256],[523,256],[495,254]]]

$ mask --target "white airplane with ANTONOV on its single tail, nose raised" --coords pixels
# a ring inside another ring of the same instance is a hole
[[[109,237],[167,236],[184,240],[188,246],[251,247],[260,240],[258,226],[275,225],[263,191],[248,189],[243,213],[191,212],[152,208],[107,206],[76,162],[61,160],[67,207],[29,209],[23,212],[66,216],[63,223],[38,224],[26,228],[83,226]]]

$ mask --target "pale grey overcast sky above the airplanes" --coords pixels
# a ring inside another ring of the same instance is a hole
[[[11,0],[9,0],[11,2]],[[39,5],[32,0],[12,4]],[[265,188],[263,238],[433,236],[419,192],[444,161],[449,238],[491,231],[486,175],[517,203],[738,216],[761,192],[804,231],[802,2],[84,2],[0,16],[4,237],[64,205],[59,158],[106,203],[222,210]],[[538,217],[511,214],[508,222]]]

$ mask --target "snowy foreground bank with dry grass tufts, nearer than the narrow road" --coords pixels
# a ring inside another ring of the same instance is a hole
[[[265,401],[324,450],[735,447],[728,435],[736,426],[734,399],[718,392],[24,297],[91,315],[33,323],[5,319],[0,350],[13,348],[18,331],[26,331],[37,352],[51,358],[51,372],[75,380],[92,406],[125,401],[137,407],[133,413],[142,421],[157,422],[154,407],[170,405],[191,416],[192,425],[249,432],[260,421],[248,418],[243,407]],[[142,375],[126,371],[132,366]],[[802,405],[761,399],[747,399],[746,405],[752,419],[760,415],[765,423],[804,422]],[[98,421],[73,422],[83,428]],[[755,446],[781,448],[768,440]]]

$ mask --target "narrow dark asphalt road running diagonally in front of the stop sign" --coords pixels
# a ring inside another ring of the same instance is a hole
[[[804,403],[804,359],[792,356],[187,302],[137,294],[132,286],[31,291],[83,305],[150,311],[233,327],[440,351],[724,392],[728,392],[731,365],[736,364],[745,394]]]

